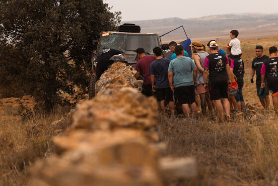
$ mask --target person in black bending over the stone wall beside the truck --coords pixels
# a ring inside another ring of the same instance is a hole
[[[102,54],[96,59],[96,80],[99,80],[100,76],[108,69],[108,66],[113,62],[109,62],[109,59],[114,56],[122,54],[121,51],[115,49],[104,49]]]

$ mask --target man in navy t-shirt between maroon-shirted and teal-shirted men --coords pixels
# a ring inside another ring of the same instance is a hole
[[[149,74],[151,74],[152,91],[156,93],[156,98],[159,101],[160,108],[165,114],[165,100],[169,102],[171,115],[174,115],[174,99],[173,92],[168,81],[168,68],[170,64],[169,59],[162,58],[162,49],[155,47],[153,50],[156,58],[149,67]],[[155,79],[155,81],[154,81]]]

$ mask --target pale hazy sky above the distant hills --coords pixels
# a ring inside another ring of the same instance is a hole
[[[227,13],[275,13],[278,0],[104,0],[122,21],[169,17],[194,18]]]

